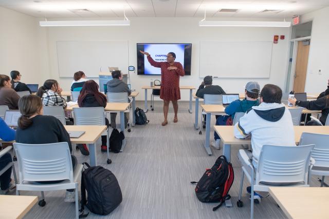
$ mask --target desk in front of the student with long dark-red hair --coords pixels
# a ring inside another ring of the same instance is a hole
[[[120,112],[120,129],[124,134],[124,111],[129,107],[130,103],[107,103],[106,107],[104,109],[105,112]],[[78,105],[66,107],[64,110],[66,111],[72,111],[73,108],[78,108]],[[134,112],[133,112],[134,114]],[[123,151],[123,148],[126,143],[126,138],[124,138],[121,152]]]

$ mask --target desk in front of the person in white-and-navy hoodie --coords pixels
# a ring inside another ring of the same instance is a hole
[[[223,142],[223,155],[226,156],[228,162],[231,160],[231,145],[251,144],[251,139],[239,139],[234,137],[234,126],[214,126],[214,129],[221,137],[221,142]],[[303,132],[328,134],[329,126],[294,126],[294,130],[295,142],[298,144]]]

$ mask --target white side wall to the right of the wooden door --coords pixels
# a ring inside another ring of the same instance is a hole
[[[301,16],[301,21],[313,20],[305,91],[319,93],[329,79],[329,7]],[[318,70],[321,69],[321,74]]]

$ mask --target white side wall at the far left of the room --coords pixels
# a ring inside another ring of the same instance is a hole
[[[43,49],[46,38],[39,31],[44,30],[34,17],[0,7],[0,74],[10,76],[10,71],[18,70],[22,82],[30,84],[40,84],[49,77],[48,55],[44,56],[47,50]]]

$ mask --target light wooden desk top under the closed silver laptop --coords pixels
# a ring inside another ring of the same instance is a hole
[[[70,138],[72,144],[94,144],[106,126],[64,126],[67,132],[85,131],[80,137]]]

